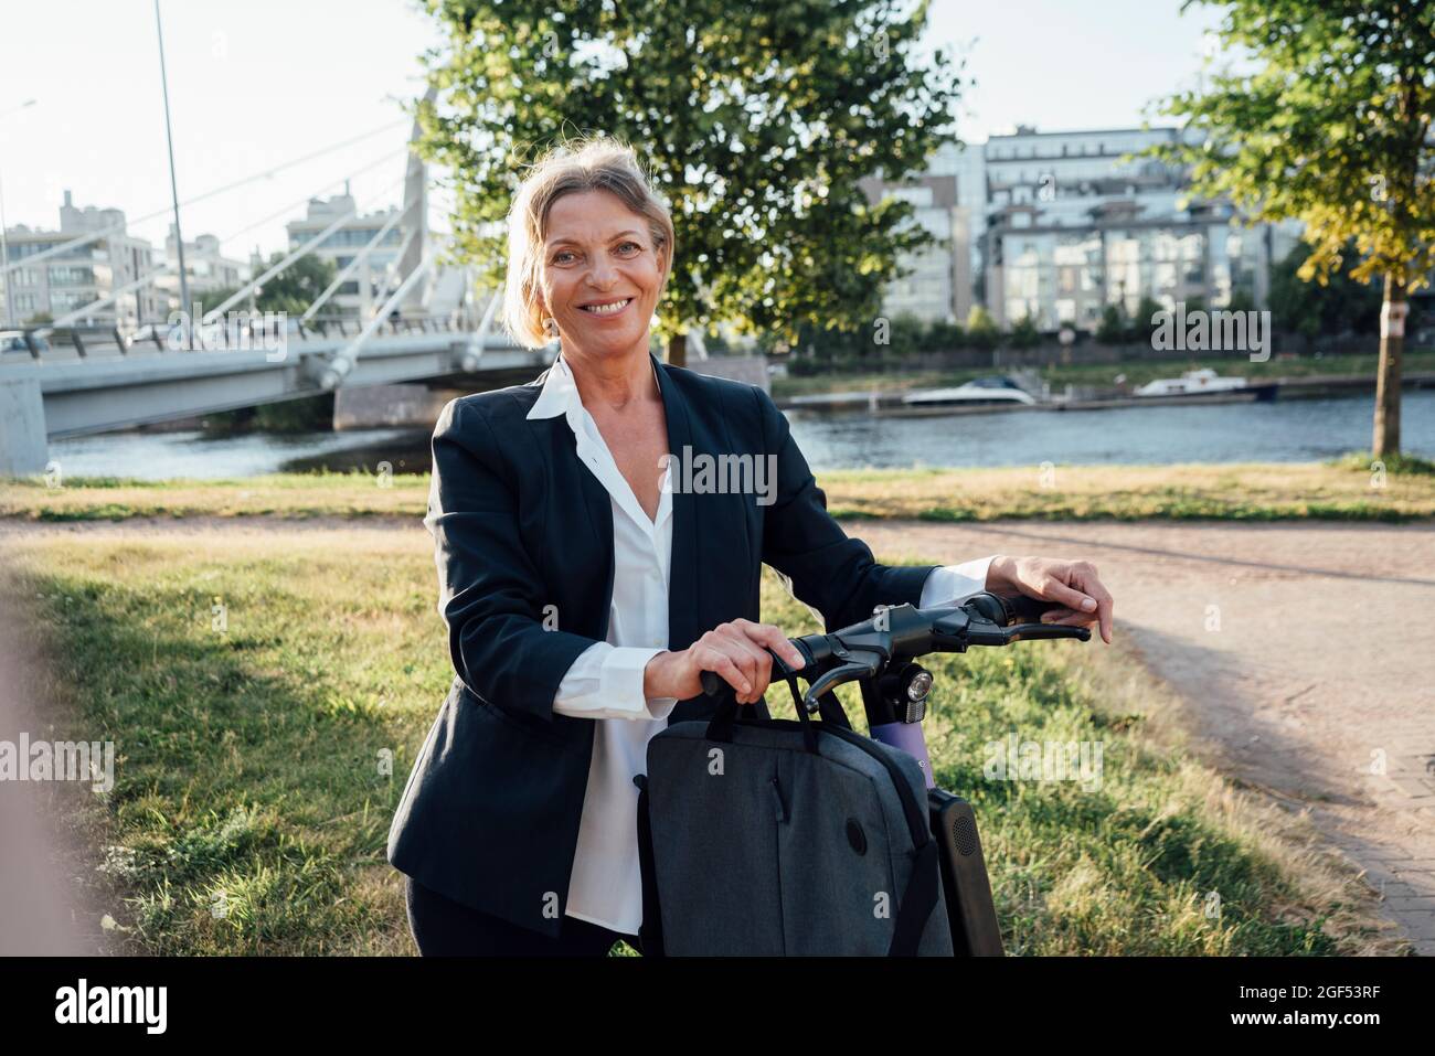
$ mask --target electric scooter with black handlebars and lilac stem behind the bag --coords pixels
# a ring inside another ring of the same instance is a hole
[[[795,670],[768,650],[772,682],[785,679],[794,706],[806,715],[821,715],[822,723],[817,729],[852,729],[832,690],[857,682],[872,739],[917,759],[927,779],[928,818],[940,849],[951,948],[959,957],[1002,957],[1002,927],[992,901],[992,881],[971,805],[937,788],[931,775],[921,727],[931,693],[931,671],[916,661],[928,653],[966,653],[971,646],[1009,646],[1035,638],[1091,640],[1088,627],[1039,623],[1042,613],[1058,607],[1035,598],[987,593],[953,607],[880,607],[871,620],[831,634],[791,638],[805,659],[802,667]],[[798,692],[799,677],[808,682],[806,693]],[[722,699],[733,692],[715,671],[703,671],[702,683],[703,692],[712,697]]]

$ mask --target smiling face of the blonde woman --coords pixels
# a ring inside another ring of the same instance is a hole
[[[647,218],[616,195],[581,191],[554,201],[541,281],[564,349],[604,357],[646,354],[663,265]]]

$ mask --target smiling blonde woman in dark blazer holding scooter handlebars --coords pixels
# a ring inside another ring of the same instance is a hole
[[[1055,618],[1111,640],[1111,595],[1082,561],[877,564],[762,389],[649,352],[674,250],[608,139],[547,156],[509,212],[505,323],[563,352],[530,385],[451,402],[433,432],[425,525],[456,674],[387,848],[423,954],[640,948],[647,740],[712,716],[703,671],[766,716],[766,650],[799,663],[759,621],[762,564],[829,630],[992,590],[1058,601]],[[723,456],[740,486],[693,472]]]

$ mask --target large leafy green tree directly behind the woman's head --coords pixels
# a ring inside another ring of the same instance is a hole
[[[895,198],[956,142],[960,79],[937,50],[910,53],[927,0],[631,0],[620,4],[426,0],[433,102],[415,108],[420,152],[453,174],[459,251],[497,283],[521,164],[560,136],[631,143],[667,199],[677,250],[657,336],[730,320],[740,333],[802,323],[871,329],[898,255],[930,245]],[[960,66],[957,67],[960,69]]]

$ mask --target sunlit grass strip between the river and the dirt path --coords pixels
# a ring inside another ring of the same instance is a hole
[[[1335,519],[1435,517],[1435,466],[1340,462],[845,469],[817,475],[837,518],[931,521]],[[43,478],[0,481],[0,518],[422,518],[426,473],[271,473],[218,481]]]

